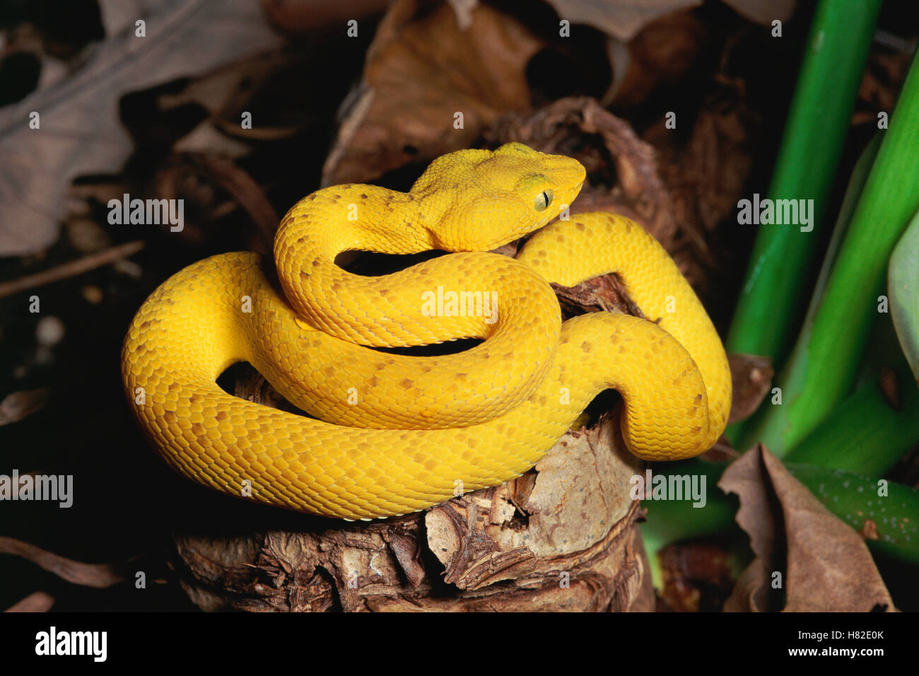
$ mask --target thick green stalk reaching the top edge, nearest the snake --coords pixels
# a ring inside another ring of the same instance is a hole
[[[821,0],[817,6],[768,190],[772,200],[813,200],[813,230],[759,226],[728,351],[766,355],[775,363],[791,343],[880,4]]]

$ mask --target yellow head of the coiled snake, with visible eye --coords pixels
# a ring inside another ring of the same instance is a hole
[[[523,143],[494,151],[460,150],[438,157],[415,183],[433,210],[427,229],[447,251],[488,251],[538,230],[562,213],[584,185],[584,166]]]

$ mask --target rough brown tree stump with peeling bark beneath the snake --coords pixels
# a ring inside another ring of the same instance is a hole
[[[527,474],[386,521],[174,536],[205,611],[650,611],[618,417],[569,431]]]

